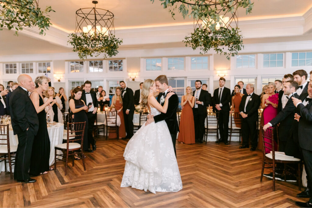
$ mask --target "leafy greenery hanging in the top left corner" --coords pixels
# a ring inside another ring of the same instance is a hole
[[[8,30],[23,30],[23,27],[39,27],[39,34],[45,34],[52,25],[50,18],[44,16],[48,12],[55,12],[51,6],[41,11],[39,0],[0,0],[0,30],[6,27]],[[48,15],[47,15],[48,16]]]

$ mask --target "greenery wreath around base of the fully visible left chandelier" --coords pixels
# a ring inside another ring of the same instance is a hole
[[[98,33],[88,35],[87,33],[72,33],[69,36],[69,41],[74,49],[74,52],[78,52],[80,59],[87,58],[87,56],[99,56],[104,53],[104,58],[107,56],[116,56],[118,53],[118,47],[122,43],[122,40],[116,38],[115,35],[105,35],[104,33]]]

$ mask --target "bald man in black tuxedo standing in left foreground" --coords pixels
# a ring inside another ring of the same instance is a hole
[[[27,91],[34,83],[32,78],[26,74],[19,75],[17,82],[19,86],[12,92],[9,99],[12,128],[18,137],[14,178],[17,182],[33,183],[36,180],[29,177],[28,171],[32,143],[37,135],[39,122],[37,111]]]

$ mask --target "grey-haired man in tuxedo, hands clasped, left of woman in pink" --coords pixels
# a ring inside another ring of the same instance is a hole
[[[240,149],[249,148],[249,136],[251,139],[250,151],[255,151],[257,140],[257,120],[258,109],[261,103],[260,96],[254,93],[255,86],[248,83],[246,85],[246,92],[248,95],[243,95],[241,98],[241,104],[239,105],[239,111],[242,117],[241,122],[241,136],[243,138],[242,146]]]

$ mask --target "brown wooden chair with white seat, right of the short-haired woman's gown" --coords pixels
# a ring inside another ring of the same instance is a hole
[[[70,130],[70,125],[74,125],[73,130]],[[85,169],[85,158],[83,153],[83,137],[85,133],[85,122],[77,122],[77,123],[67,123],[67,139],[66,143],[58,144],[54,147],[54,171],[56,171],[56,162],[57,161],[64,161],[65,164],[65,176],[67,174],[67,163],[68,163],[68,156],[73,155],[73,167],[76,154],[79,158],[82,159],[83,168]],[[76,143],[80,142],[80,143]],[[61,154],[57,154],[56,151],[61,150]],[[62,159],[57,158],[56,156],[61,156]],[[66,160],[63,158],[66,157]]]

